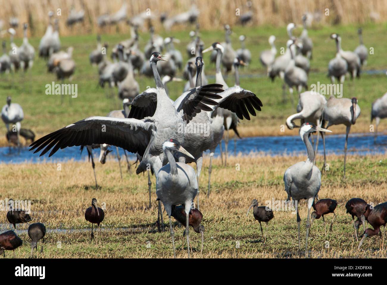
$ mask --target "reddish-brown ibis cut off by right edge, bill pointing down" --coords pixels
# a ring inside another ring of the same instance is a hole
[[[363,241],[365,240],[366,237],[380,234],[380,238],[382,238],[382,231],[380,230],[380,227],[383,226],[383,242],[382,242],[382,250],[383,250],[385,225],[387,223],[387,202],[379,204],[372,209],[372,211],[368,216],[368,223],[370,223],[370,225],[373,226],[373,230],[372,228],[368,228],[364,231],[363,238],[361,238],[360,240],[358,249],[360,249],[361,244],[363,244]]]

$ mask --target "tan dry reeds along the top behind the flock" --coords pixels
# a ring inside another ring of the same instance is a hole
[[[161,29],[159,14],[168,12],[169,16],[173,16],[190,9],[192,3],[191,0],[14,0],[12,3],[1,0],[0,19],[5,22],[5,26],[8,26],[9,18],[17,16],[20,23],[29,22],[33,35],[40,36],[46,29],[48,11],[56,12],[57,9],[61,9],[62,16],[58,16],[61,35],[96,33],[101,32],[97,25],[98,16],[104,13],[113,14],[120,9],[123,2],[128,4],[128,17],[150,8],[152,16],[155,17],[156,29]],[[235,24],[239,19],[236,16],[236,9],[240,9],[241,15],[247,12],[246,2],[245,0],[196,0],[195,3],[201,13],[200,26],[204,29],[219,29],[226,23]],[[382,22],[387,19],[387,0],[252,0],[252,2],[255,15],[253,25],[282,26],[288,22],[300,22],[303,13],[307,11],[313,13],[316,10],[322,14],[322,24],[358,24],[368,22],[371,18]],[[85,10],[84,23],[73,28],[67,27],[65,23],[72,5],[76,10]],[[324,16],[325,9],[329,9],[329,16]],[[129,29],[126,24],[121,23],[118,29],[116,26],[111,26],[103,28],[102,31],[127,33]],[[20,28],[18,36],[21,35]]]

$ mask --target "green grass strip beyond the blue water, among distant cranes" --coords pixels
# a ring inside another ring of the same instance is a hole
[[[277,78],[272,83],[265,76],[265,69],[260,65],[259,54],[262,50],[269,48],[267,38],[269,35],[276,35],[276,46],[279,50],[285,46],[287,35],[286,29],[260,27],[260,28],[240,28],[235,27],[232,35],[233,47],[236,50],[240,47],[238,36],[242,33],[247,36],[246,45],[253,55],[252,63],[248,68],[241,71],[241,86],[253,91],[262,100],[264,107],[257,117],[251,121],[242,121],[239,127],[242,136],[265,136],[265,135],[296,135],[297,130],[286,130],[281,132],[281,125],[285,124],[286,118],[295,112],[290,100],[286,104],[282,102],[282,84]],[[335,55],[334,41],[329,38],[330,33],[339,33],[342,36],[342,47],[344,50],[354,50],[358,45],[356,28],[353,26],[322,27],[310,30],[309,35],[314,42],[313,60],[311,60],[311,72],[309,85],[317,83],[330,83],[327,78],[327,65]],[[300,30],[295,31],[298,35]],[[363,27],[365,45],[374,48],[374,54],[369,55],[368,65],[365,70],[385,69],[387,59],[384,50],[387,43],[380,41],[380,35],[385,33],[384,24],[368,24]],[[178,31],[173,33],[161,33],[163,36],[173,35],[181,40],[176,48],[182,51],[184,59],[188,59],[185,53],[186,44],[189,41],[188,31]],[[206,47],[214,41],[224,41],[223,31],[201,31],[202,39]],[[102,35],[102,40],[110,43],[110,47],[120,40],[128,38],[129,35]],[[148,34],[140,34],[140,46],[144,47],[148,40]],[[21,44],[21,39],[15,40],[17,45]],[[39,38],[32,38],[30,42],[35,48],[38,47]],[[25,119],[22,126],[30,128],[36,132],[37,138],[51,131],[55,131],[70,123],[92,115],[105,115],[112,109],[122,108],[122,104],[117,96],[107,98],[106,90],[98,86],[98,73],[96,68],[89,64],[88,55],[96,47],[94,35],[68,36],[62,37],[62,48],[74,47],[74,60],[77,64],[72,83],[78,85],[78,97],[60,104],[60,95],[46,95],[46,84],[51,84],[56,80],[54,74],[46,72],[45,61],[36,58],[33,69],[26,74],[1,74],[0,90],[2,91],[2,104],[5,104],[5,97],[12,96],[14,102],[22,105]],[[110,51],[108,50],[108,54]],[[214,75],[214,65],[209,62],[209,54],[204,55],[206,64],[205,72]],[[179,73],[181,75],[181,73]],[[244,75],[252,75],[245,77]],[[152,78],[137,76],[140,89],[145,90],[146,86],[154,86]],[[211,78],[211,82],[215,79]],[[231,86],[234,84],[233,74],[229,74],[226,79]],[[182,93],[184,82],[173,82],[168,85],[170,95],[173,99]],[[116,91],[115,91],[116,92]],[[359,80],[350,82],[346,80],[343,86],[344,97],[356,96],[361,107],[361,116],[356,124],[351,128],[351,132],[368,132],[370,130],[370,108],[371,103],[381,97],[386,92],[385,74],[363,74]],[[296,97],[296,96],[295,96]],[[329,97],[329,96],[327,96]],[[69,102],[70,101],[70,102]],[[295,102],[297,98],[295,98]],[[332,127],[335,133],[344,133],[344,126]],[[387,130],[387,124],[383,121],[379,131]],[[5,127],[0,124],[0,134],[5,134]],[[6,145],[5,136],[1,135],[0,145]]]

